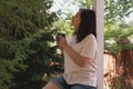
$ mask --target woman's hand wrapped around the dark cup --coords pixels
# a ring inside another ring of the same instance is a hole
[[[59,40],[57,41],[57,46],[62,49],[69,48],[69,44],[66,42],[66,39],[64,37],[59,37]]]

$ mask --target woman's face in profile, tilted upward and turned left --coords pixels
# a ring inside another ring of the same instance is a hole
[[[72,17],[72,26],[78,29],[81,22],[81,11],[78,11],[75,16]]]

